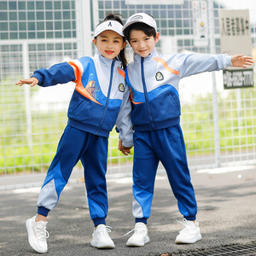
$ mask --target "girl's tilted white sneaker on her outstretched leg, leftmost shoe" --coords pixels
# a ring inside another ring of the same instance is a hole
[[[47,252],[46,238],[49,237],[49,233],[46,230],[47,222],[38,221],[35,222],[36,216],[28,218],[26,220],[26,230],[28,235],[28,241],[30,246],[38,253]]]

